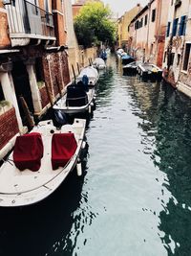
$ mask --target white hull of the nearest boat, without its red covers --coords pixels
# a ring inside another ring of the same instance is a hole
[[[62,127],[63,132],[67,132],[70,128],[70,130],[74,132],[77,142],[77,148],[74,151],[74,155],[65,167],[59,167],[57,170],[53,171],[51,168],[50,145],[44,145],[45,158],[43,157],[42,167],[37,172],[32,172],[28,169],[23,172],[17,170],[11,161],[11,154],[9,159],[0,169],[0,207],[32,205],[52,195],[62,184],[67,175],[74,170],[82,151],[85,126],[85,120],[75,119],[74,125]],[[41,130],[43,128],[43,126],[40,127]],[[44,141],[49,141],[51,143],[53,127],[49,128],[49,132],[46,135],[42,135],[42,137]],[[36,127],[33,130],[39,132],[40,129]],[[56,128],[54,128],[54,132],[58,132]]]

